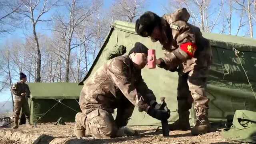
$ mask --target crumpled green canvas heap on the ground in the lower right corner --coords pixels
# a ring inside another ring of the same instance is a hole
[[[256,112],[236,110],[233,125],[222,131],[223,137],[243,142],[256,141]]]

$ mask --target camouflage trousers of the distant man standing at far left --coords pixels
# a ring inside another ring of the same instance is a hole
[[[25,96],[15,96],[14,98],[14,108],[13,108],[13,118],[20,117],[20,110],[24,112],[26,119],[30,117],[30,110],[28,106],[28,99]]]

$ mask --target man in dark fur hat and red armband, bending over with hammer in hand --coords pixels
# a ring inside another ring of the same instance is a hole
[[[170,130],[190,130],[189,109],[194,101],[196,125],[193,135],[210,130],[206,78],[212,52],[209,41],[203,38],[200,29],[188,23],[190,14],[181,8],[172,14],[159,17],[145,12],[136,21],[136,32],[150,36],[152,42],[159,42],[165,50],[165,57],[156,60],[158,67],[178,71],[178,114],[179,120],[169,125]]]

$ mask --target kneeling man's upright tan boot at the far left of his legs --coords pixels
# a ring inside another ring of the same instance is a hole
[[[74,127],[74,132],[78,139],[85,137],[85,134],[86,134],[85,120],[86,120],[85,114],[83,114],[82,112],[78,112],[76,114],[76,119],[75,119],[76,124]]]

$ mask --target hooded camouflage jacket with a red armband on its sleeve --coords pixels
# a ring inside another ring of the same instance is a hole
[[[166,63],[164,68],[173,69],[182,64],[182,70],[186,73],[194,68],[194,63],[198,60],[202,62],[199,65],[208,66],[212,55],[209,41],[202,36],[198,27],[187,22],[190,14],[186,8],[166,14],[162,18],[172,29],[172,44],[163,46],[166,56],[162,58]]]

